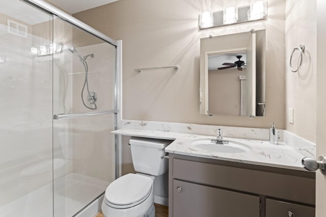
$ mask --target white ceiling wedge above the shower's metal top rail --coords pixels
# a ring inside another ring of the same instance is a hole
[[[67,12],[74,14],[91,8],[96,8],[118,0],[49,0]]]

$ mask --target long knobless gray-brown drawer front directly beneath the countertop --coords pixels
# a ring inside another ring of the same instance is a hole
[[[173,159],[173,178],[315,204],[315,179]]]

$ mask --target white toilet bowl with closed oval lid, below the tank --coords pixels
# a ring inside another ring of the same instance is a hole
[[[103,214],[109,217],[154,217],[153,178],[129,173],[113,181],[105,191]]]

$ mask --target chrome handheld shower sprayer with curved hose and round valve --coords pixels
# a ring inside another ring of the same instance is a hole
[[[83,56],[80,55],[80,53],[76,50],[75,47],[71,47],[71,48],[68,48],[68,50],[71,52],[71,53],[75,53],[77,54],[77,56],[79,57],[79,60],[80,62],[82,62],[82,64],[84,65],[84,68],[85,68],[85,81],[84,81],[84,85],[83,85],[83,89],[82,89],[82,101],[83,101],[83,104],[86,108],[89,108],[89,109],[92,109],[92,110],[95,110],[97,109],[97,105],[96,105],[96,101],[97,101],[97,95],[94,91],[91,91],[89,90],[89,87],[88,87],[88,65],[87,65],[87,61],[86,59],[88,57],[91,57],[91,58],[94,58],[94,54],[93,53],[90,53],[90,54],[87,54],[86,56]],[[88,99],[87,99],[87,102],[88,104],[90,105],[94,105],[94,108],[92,107],[89,107],[85,104],[84,102],[84,89],[85,89],[85,86],[86,86],[86,89],[87,89],[87,92],[88,92]]]

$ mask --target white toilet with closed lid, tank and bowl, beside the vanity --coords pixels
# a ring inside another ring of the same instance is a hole
[[[154,182],[168,171],[164,149],[171,140],[131,137],[130,148],[134,170],[114,180],[105,191],[102,212],[105,217],[154,217]]]

